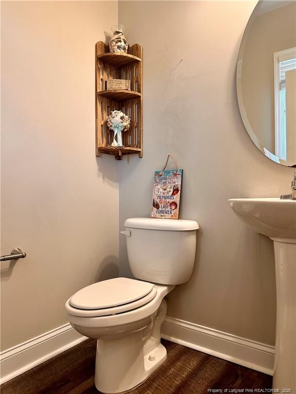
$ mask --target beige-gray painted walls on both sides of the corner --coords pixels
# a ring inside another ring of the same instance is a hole
[[[169,316],[274,343],[272,243],[227,202],[288,193],[293,173],[257,150],[237,107],[236,57],[255,3],[119,3],[128,41],[144,48],[144,157],[120,163],[96,159],[94,146],[94,44],[117,3],[2,3],[2,253],[28,253],[2,271],[3,349],[67,323],[73,292],[117,275],[117,167],[123,229],[149,216],[168,153],[184,169],[180,218],[201,227]],[[130,275],[123,236],[120,274]]]

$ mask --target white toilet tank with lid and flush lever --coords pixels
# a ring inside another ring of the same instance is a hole
[[[189,280],[195,260],[197,222],[132,218],[124,226],[128,262],[135,278],[162,285]]]

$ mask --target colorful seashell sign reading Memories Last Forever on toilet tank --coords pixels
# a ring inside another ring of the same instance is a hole
[[[167,163],[165,167],[167,167]],[[150,217],[179,219],[183,170],[165,170],[165,167],[162,171],[155,171],[154,173],[153,201]]]

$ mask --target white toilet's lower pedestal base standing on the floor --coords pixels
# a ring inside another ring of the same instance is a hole
[[[167,349],[160,343],[166,311],[163,300],[152,327],[97,341],[95,385],[99,391],[115,394],[132,390],[167,359]]]

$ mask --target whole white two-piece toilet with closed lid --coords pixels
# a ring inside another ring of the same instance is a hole
[[[136,279],[94,283],[66,302],[78,332],[97,339],[95,385],[103,393],[131,390],[167,358],[160,328],[165,295],[189,280],[197,222],[132,218],[124,223],[128,262]]]

